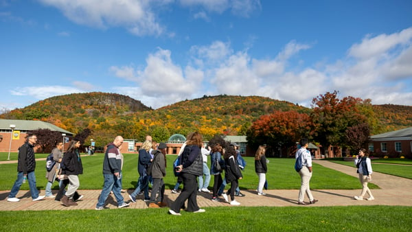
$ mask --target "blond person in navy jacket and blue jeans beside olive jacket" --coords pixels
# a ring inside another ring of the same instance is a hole
[[[136,202],[136,196],[141,191],[144,192],[144,201],[149,201],[149,179],[148,179],[148,167],[152,163],[152,156],[149,154],[149,150],[152,148],[152,141],[146,140],[141,144],[139,149],[139,161],[137,162],[137,171],[139,172],[139,180],[137,180],[137,186],[135,191],[129,195],[132,202]]]

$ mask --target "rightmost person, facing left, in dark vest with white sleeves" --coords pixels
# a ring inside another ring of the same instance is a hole
[[[369,154],[365,148],[359,150],[359,154],[356,156],[355,165],[358,168],[356,172],[359,174],[359,181],[362,184],[362,192],[359,196],[354,196],[355,200],[363,200],[363,197],[367,193],[369,198],[366,200],[375,200],[372,196],[371,190],[367,187],[367,183],[372,180],[372,165],[371,159],[369,159]]]

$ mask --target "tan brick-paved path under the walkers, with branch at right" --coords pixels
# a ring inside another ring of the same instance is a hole
[[[329,167],[339,172],[356,176],[355,167],[339,165],[329,161],[314,161],[325,167]],[[242,206],[271,206],[271,207],[312,207],[312,206],[345,206],[345,205],[404,205],[412,206],[412,180],[400,178],[387,174],[374,172],[371,183],[378,185],[381,189],[373,189],[372,192],[376,200],[353,200],[353,196],[360,194],[361,189],[353,190],[336,190],[336,189],[313,189],[314,198],[319,199],[315,205],[302,206],[297,205],[297,195],[299,190],[267,190],[266,196],[258,196],[255,190],[242,190],[246,196],[236,198]],[[55,191],[55,190],[54,190]],[[130,191],[130,190],[128,190]],[[29,191],[20,191],[17,195],[21,199],[20,202],[8,202],[7,197],[10,191],[0,191],[0,211],[8,210],[70,210],[70,209],[94,209],[98,202],[100,190],[79,190],[84,198],[78,202],[78,206],[64,207],[60,202],[55,202],[54,198],[33,202]],[[131,192],[131,191],[130,191]],[[41,190],[44,194],[44,190]],[[129,200],[128,193],[123,194],[126,201]],[[176,199],[178,195],[172,194],[169,189],[165,190],[165,200],[168,205]],[[198,205],[200,207],[232,207],[225,202],[212,202],[211,194],[198,194]],[[110,209],[117,208],[113,196],[109,196],[108,205]],[[145,209],[146,202],[139,198],[137,202],[131,203],[129,209]]]

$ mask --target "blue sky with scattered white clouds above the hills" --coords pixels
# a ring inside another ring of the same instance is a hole
[[[119,93],[412,106],[409,0],[0,0],[0,108]]]

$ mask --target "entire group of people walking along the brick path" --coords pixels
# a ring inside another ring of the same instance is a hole
[[[44,198],[55,198],[62,202],[62,205],[67,207],[78,205],[76,201],[82,198],[77,190],[80,186],[78,178],[82,174],[82,159],[80,158],[79,148],[81,146],[80,140],[74,138],[69,143],[69,148],[65,154],[62,154],[62,143],[57,142],[56,147],[52,150],[53,159],[55,161],[54,167],[46,174],[47,185],[45,187],[45,196],[39,196],[36,187],[36,176],[34,170],[36,168],[36,160],[34,154],[34,146],[36,145],[36,135],[28,135],[27,141],[19,148],[19,158],[17,165],[17,179],[8,196],[9,202],[18,202],[16,194],[23,182],[27,179],[32,200],[43,200]],[[120,152],[124,139],[121,136],[115,137],[113,143],[109,143],[104,154],[103,161],[103,176],[104,185],[102,192],[98,198],[96,210],[105,209],[104,205],[108,195],[113,192],[119,208],[128,207],[130,203],[125,202],[122,196],[122,167],[124,156]],[[308,205],[304,202],[304,195],[309,198],[309,204],[314,204],[318,200],[314,199],[310,192],[310,178],[312,177],[312,157],[307,150],[308,139],[303,138],[300,141],[299,150],[295,154],[295,159],[301,159],[301,187],[299,189],[298,204]],[[166,159],[165,154],[167,148],[165,143],[155,143],[152,137],[146,136],[146,141],[139,149],[139,159],[137,170],[139,172],[139,179],[137,180],[137,187],[135,191],[129,195],[132,202],[136,202],[137,195],[144,194],[144,201],[148,202],[151,208],[165,207],[164,200],[165,184],[163,178],[166,174]],[[238,181],[242,179],[241,170],[244,168],[244,163],[238,152],[236,143],[227,143],[223,139],[211,139],[209,141],[209,150],[203,146],[203,137],[199,132],[192,132],[187,136],[184,146],[181,148],[179,155],[180,165],[176,167],[176,172],[179,173],[178,183],[172,192],[177,193],[176,189],[180,183],[183,182],[183,190],[170,205],[169,213],[172,215],[181,215],[180,210],[194,213],[205,212],[197,204],[198,192],[209,192],[210,176],[214,176],[214,186],[212,190],[211,200],[222,201],[218,196],[222,196],[225,202],[231,205],[240,205],[235,199],[235,196],[244,196],[240,193]],[[266,195],[263,189],[267,185],[266,172],[268,161],[265,156],[265,146],[259,146],[255,152],[255,172],[258,175],[259,183],[257,187],[258,195]],[[211,167],[207,167],[207,156],[210,156]],[[361,149],[355,159],[355,165],[359,175],[359,180],[363,186],[360,196],[354,196],[356,200],[363,200],[365,194],[369,194],[367,200],[374,200],[367,183],[371,181],[371,161],[367,155],[367,150]],[[225,171],[225,172],[223,172]],[[222,173],[225,173],[222,178]],[[205,174],[205,181],[203,182],[203,175]],[[199,183],[198,183],[199,178]],[[52,184],[58,179],[60,181],[60,189],[58,194],[52,194]],[[152,183],[152,192],[149,196],[148,185]],[[225,185],[229,183],[230,189],[224,192]],[[65,189],[67,187],[67,190]],[[229,201],[230,196],[230,201]],[[185,201],[187,200],[187,208]]]

